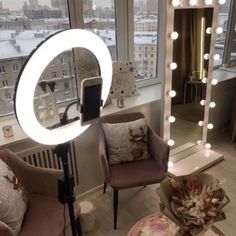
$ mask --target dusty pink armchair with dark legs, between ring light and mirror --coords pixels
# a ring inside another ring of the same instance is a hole
[[[123,123],[144,118],[142,113],[128,113],[102,118],[103,123]],[[115,134],[114,134],[115,135]],[[117,228],[118,192],[120,189],[160,183],[167,174],[169,146],[148,127],[147,144],[150,158],[121,164],[109,164],[107,143],[103,129],[99,139],[99,157],[104,171],[104,188],[113,188],[114,229]]]

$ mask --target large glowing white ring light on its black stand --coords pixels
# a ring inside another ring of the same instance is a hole
[[[64,169],[64,177],[59,180],[59,191],[63,192],[59,195],[59,200],[68,204],[73,236],[81,235],[81,232],[76,230],[75,225],[73,209],[74,181],[69,175],[67,153],[69,152],[69,141],[83,133],[90,125],[81,126],[80,121],[76,119],[72,123],[68,121],[67,110],[70,104],[66,108],[63,115],[64,119],[61,120],[59,127],[56,125],[54,129],[47,129],[38,122],[35,116],[33,98],[38,80],[50,61],[60,53],[76,47],[88,49],[97,58],[103,79],[101,100],[106,101],[112,79],[111,56],[101,38],[82,29],[60,31],[42,42],[31,53],[19,74],[14,98],[16,118],[24,132],[38,143],[45,145],[59,144],[55,148],[55,152],[61,158]]]

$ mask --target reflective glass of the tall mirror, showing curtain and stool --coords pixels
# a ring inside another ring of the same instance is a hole
[[[171,139],[175,140],[172,155],[185,150],[202,139],[206,78],[209,63],[212,8],[176,9],[174,12],[173,61],[177,68],[172,74]],[[202,104],[202,105],[201,105]]]

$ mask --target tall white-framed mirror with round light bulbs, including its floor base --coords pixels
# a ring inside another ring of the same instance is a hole
[[[199,172],[223,159],[207,143],[207,131],[213,127],[209,110],[220,4],[209,0],[159,2],[161,135],[171,146],[170,175]]]

